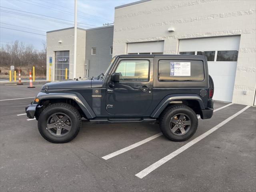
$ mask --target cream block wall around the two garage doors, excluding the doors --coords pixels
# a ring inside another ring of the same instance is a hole
[[[114,22],[113,55],[126,54],[129,42],[164,40],[164,54],[178,54],[179,39],[241,35],[232,102],[253,105],[256,1],[151,0],[117,8]]]

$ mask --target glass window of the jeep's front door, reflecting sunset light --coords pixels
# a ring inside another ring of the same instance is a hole
[[[148,81],[148,60],[122,60],[119,62],[116,73],[120,73],[120,81]]]

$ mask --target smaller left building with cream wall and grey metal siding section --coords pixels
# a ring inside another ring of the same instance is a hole
[[[96,77],[104,73],[112,59],[114,26],[77,28],[76,78]],[[74,27],[49,31],[47,41],[47,80],[64,80],[74,74]],[[96,54],[92,54],[92,48]],[[65,57],[60,57],[66,53]],[[51,74],[51,75],[49,75]]]

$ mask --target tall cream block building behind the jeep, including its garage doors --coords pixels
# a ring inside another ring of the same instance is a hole
[[[205,54],[214,99],[255,105],[255,0],[142,0],[114,23],[113,55]]]

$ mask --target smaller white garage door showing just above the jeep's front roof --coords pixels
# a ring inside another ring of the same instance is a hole
[[[128,43],[127,54],[163,54],[164,41]]]

